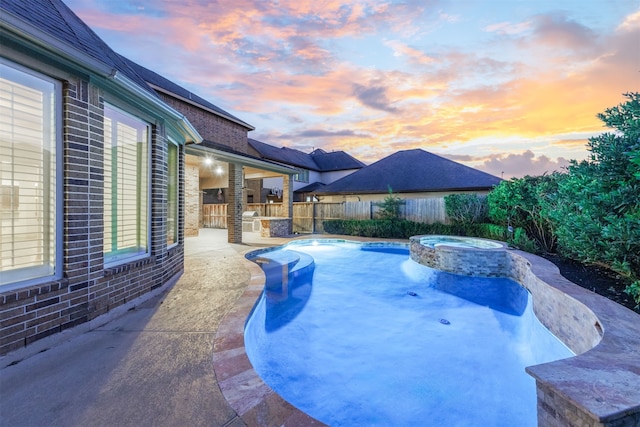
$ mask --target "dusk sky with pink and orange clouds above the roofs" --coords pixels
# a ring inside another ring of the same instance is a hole
[[[256,130],[504,178],[588,156],[640,90],[638,0],[65,0],[118,53]]]

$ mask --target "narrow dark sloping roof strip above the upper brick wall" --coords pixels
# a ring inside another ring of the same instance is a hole
[[[225,118],[227,120],[231,120],[232,122],[235,122],[241,126],[246,127],[249,130],[254,130],[255,128],[253,126],[251,126],[250,124],[240,120],[239,118],[235,117],[234,115],[228,113],[227,111],[223,110],[222,108],[218,107],[215,104],[212,104],[211,102],[207,101],[206,99],[196,95],[195,93],[183,88],[182,86],[172,82],[171,80],[162,77],[160,74],[149,70],[148,68],[143,67],[140,64],[137,64],[136,62],[133,62],[132,60],[125,58],[124,56],[121,56],[122,60],[128,64],[129,67],[131,67],[131,69],[135,70],[136,73],[138,73],[149,85],[151,85],[151,87],[153,87],[154,89],[161,91],[161,92],[165,92],[168,93],[169,95],[173,95],[174,97],[177,97],[179,99],[181,99],[184,102],[196,105],[200,108],[204,108],[205,110],[208,110],[210,112],[212,112],[213,114],[216,114],[222,118]]]

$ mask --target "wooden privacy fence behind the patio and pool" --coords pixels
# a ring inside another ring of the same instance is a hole
[[[328,219],[373,219],[380,202],[300,202],[293,204],[293,231],[296,233],[322,233],[322,221]],[[258,216],[284,217],[282,203],[249,203],[247,211]],[[400,206],[400,218],[431,224],[446,223],[444,198],[405,199]],[[227,228],[227,205],[203,205],[202,227]]]

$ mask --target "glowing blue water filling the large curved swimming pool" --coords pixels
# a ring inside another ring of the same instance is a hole
[[[406,248],[289,245],[245,327],[260,377],[331,426],[535,426],[526,366],[573,356],[509,279],[439,272]]]

